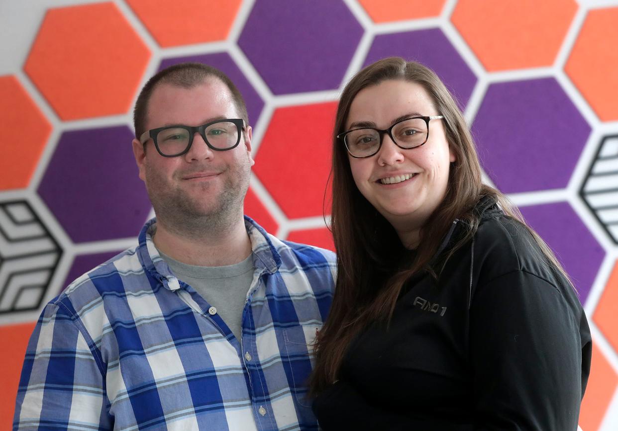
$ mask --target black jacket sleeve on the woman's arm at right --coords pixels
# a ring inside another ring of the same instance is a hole
[[[535,275],[516,271],[478,288],[469,332],[478,430],[577,429],[577,321],[561,292]]]

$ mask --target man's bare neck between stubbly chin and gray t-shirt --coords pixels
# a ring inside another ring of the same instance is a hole
[[[158,221],[153,241],[156,248],[172,259],[195,266],[233,265],[251,253],[251,241],[242,218],[220,232],[195,235],[188,232],[179,235]]]

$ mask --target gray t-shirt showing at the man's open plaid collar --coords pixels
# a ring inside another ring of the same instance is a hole
[[[242,310],[253,280],[253,253],[242,262],[227,266],[187,265],[159,254],[179,280],[190,285],[217,309],[234,336],[240,341]]]

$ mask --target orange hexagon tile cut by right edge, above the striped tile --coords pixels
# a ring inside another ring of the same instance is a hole
[[[596,115],[603,121],[618,120],[618,7],[588,12],[565,72]]]

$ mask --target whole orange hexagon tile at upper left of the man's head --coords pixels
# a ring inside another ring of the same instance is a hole
[[[25,71],[62,120],[129,111],[150,51],[112,2],[49,9]]]

